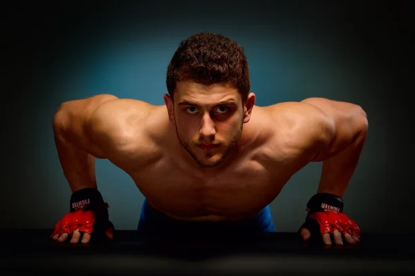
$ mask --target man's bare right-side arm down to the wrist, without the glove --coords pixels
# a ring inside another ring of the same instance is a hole
[[[319,108],[334,128],[332,139],[312,161],[323,161],[317,193],[331,193],[342,197],[356,170],[367,137],[366,112],[358,105],[324,98],[308,98]]]

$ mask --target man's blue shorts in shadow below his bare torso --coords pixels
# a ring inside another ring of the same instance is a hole
[[[137,230],[141,233],[264,233],[275,232],[275,226],[270,213],[270,207],[266,206],[250,219],[239,221],[182,221],[173,219],[154,208],[147,199],[141,208],[140,221]]]

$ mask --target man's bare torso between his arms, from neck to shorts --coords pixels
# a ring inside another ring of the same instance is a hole
[[[209,173],[195,170],[176,154],[179,144],[167,110],[164,106],[154,108],[146,125],[156,137],[131,141],[137,143],[137,151],[147,144],[147,152],[135,160],[130,155],[129,164],[116,165],[132,177],[151,206],[170,217],[189,221],[253,217],[308,163],[291,141],[291,127],[279,125],[281,135],[268,135],[267,129],[273,125],[263,116],[265,108],[256,106],[250,122],[243,126],[243,145],[228,166]]]

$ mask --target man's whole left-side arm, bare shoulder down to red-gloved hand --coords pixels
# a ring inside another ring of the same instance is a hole
[[[114,227],[109,221],[107,209],[102,208],[104,201],[98,192],[95,158],[109,159],[116,165],[123,165],[124,168],[127,168],[125,162],[136,166],[136,162],[128,161],[128,158],[131,152],[140,152],[142,155],[142,150],[137,150],[136,145],[145,144],[145,141],[140,139],[145,137],[140,135],[144,132],[141,123],[145,115],[149,114],[150,107],[151,105],[143,101],[118,99],[113,95],[66,101],[59,106],[53,117],[53,134],[59,161],[71,187],[71,204],[90,199],[87,204],[89,207],[85,208],[92,210],[95,222],[92,226],[89,220],[91,212],[72,211],[84,206],[71,205],[71,213],[55,225],[52,239],[64,242],[68,235],[72,235],[71,243],[76,244],[83,232],[82,243],[88,243],[93,228],[98,229],[98,233],[105,233],[105,237],[113,239]],[[94,189],[95,193],[86,188]],[[76,230],[68,229],[68,226],[73,226],[72,219],[77,219],[82,226],[77,224],[79,228]],[[95,237],[99,239],[100,235]]]

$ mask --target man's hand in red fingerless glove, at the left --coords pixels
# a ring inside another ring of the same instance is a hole
[[[56,242],[65,242],[70,235],[71,244],[81,243],[88,244],[91,241],[94,224],[96,222],[95,215],[91,210],[76,210],[75,212],[66,214],[61,220],[57,221],[55,230],[50,237]],[[102,226],[102,223],[100,223]],[[113,240],[114,227],[111,221],[105,224],[105,237],[110,241]],[[102,230],[102,227],[97,227],[95,232]],[[83,235],[82,235],[83,234]]]

